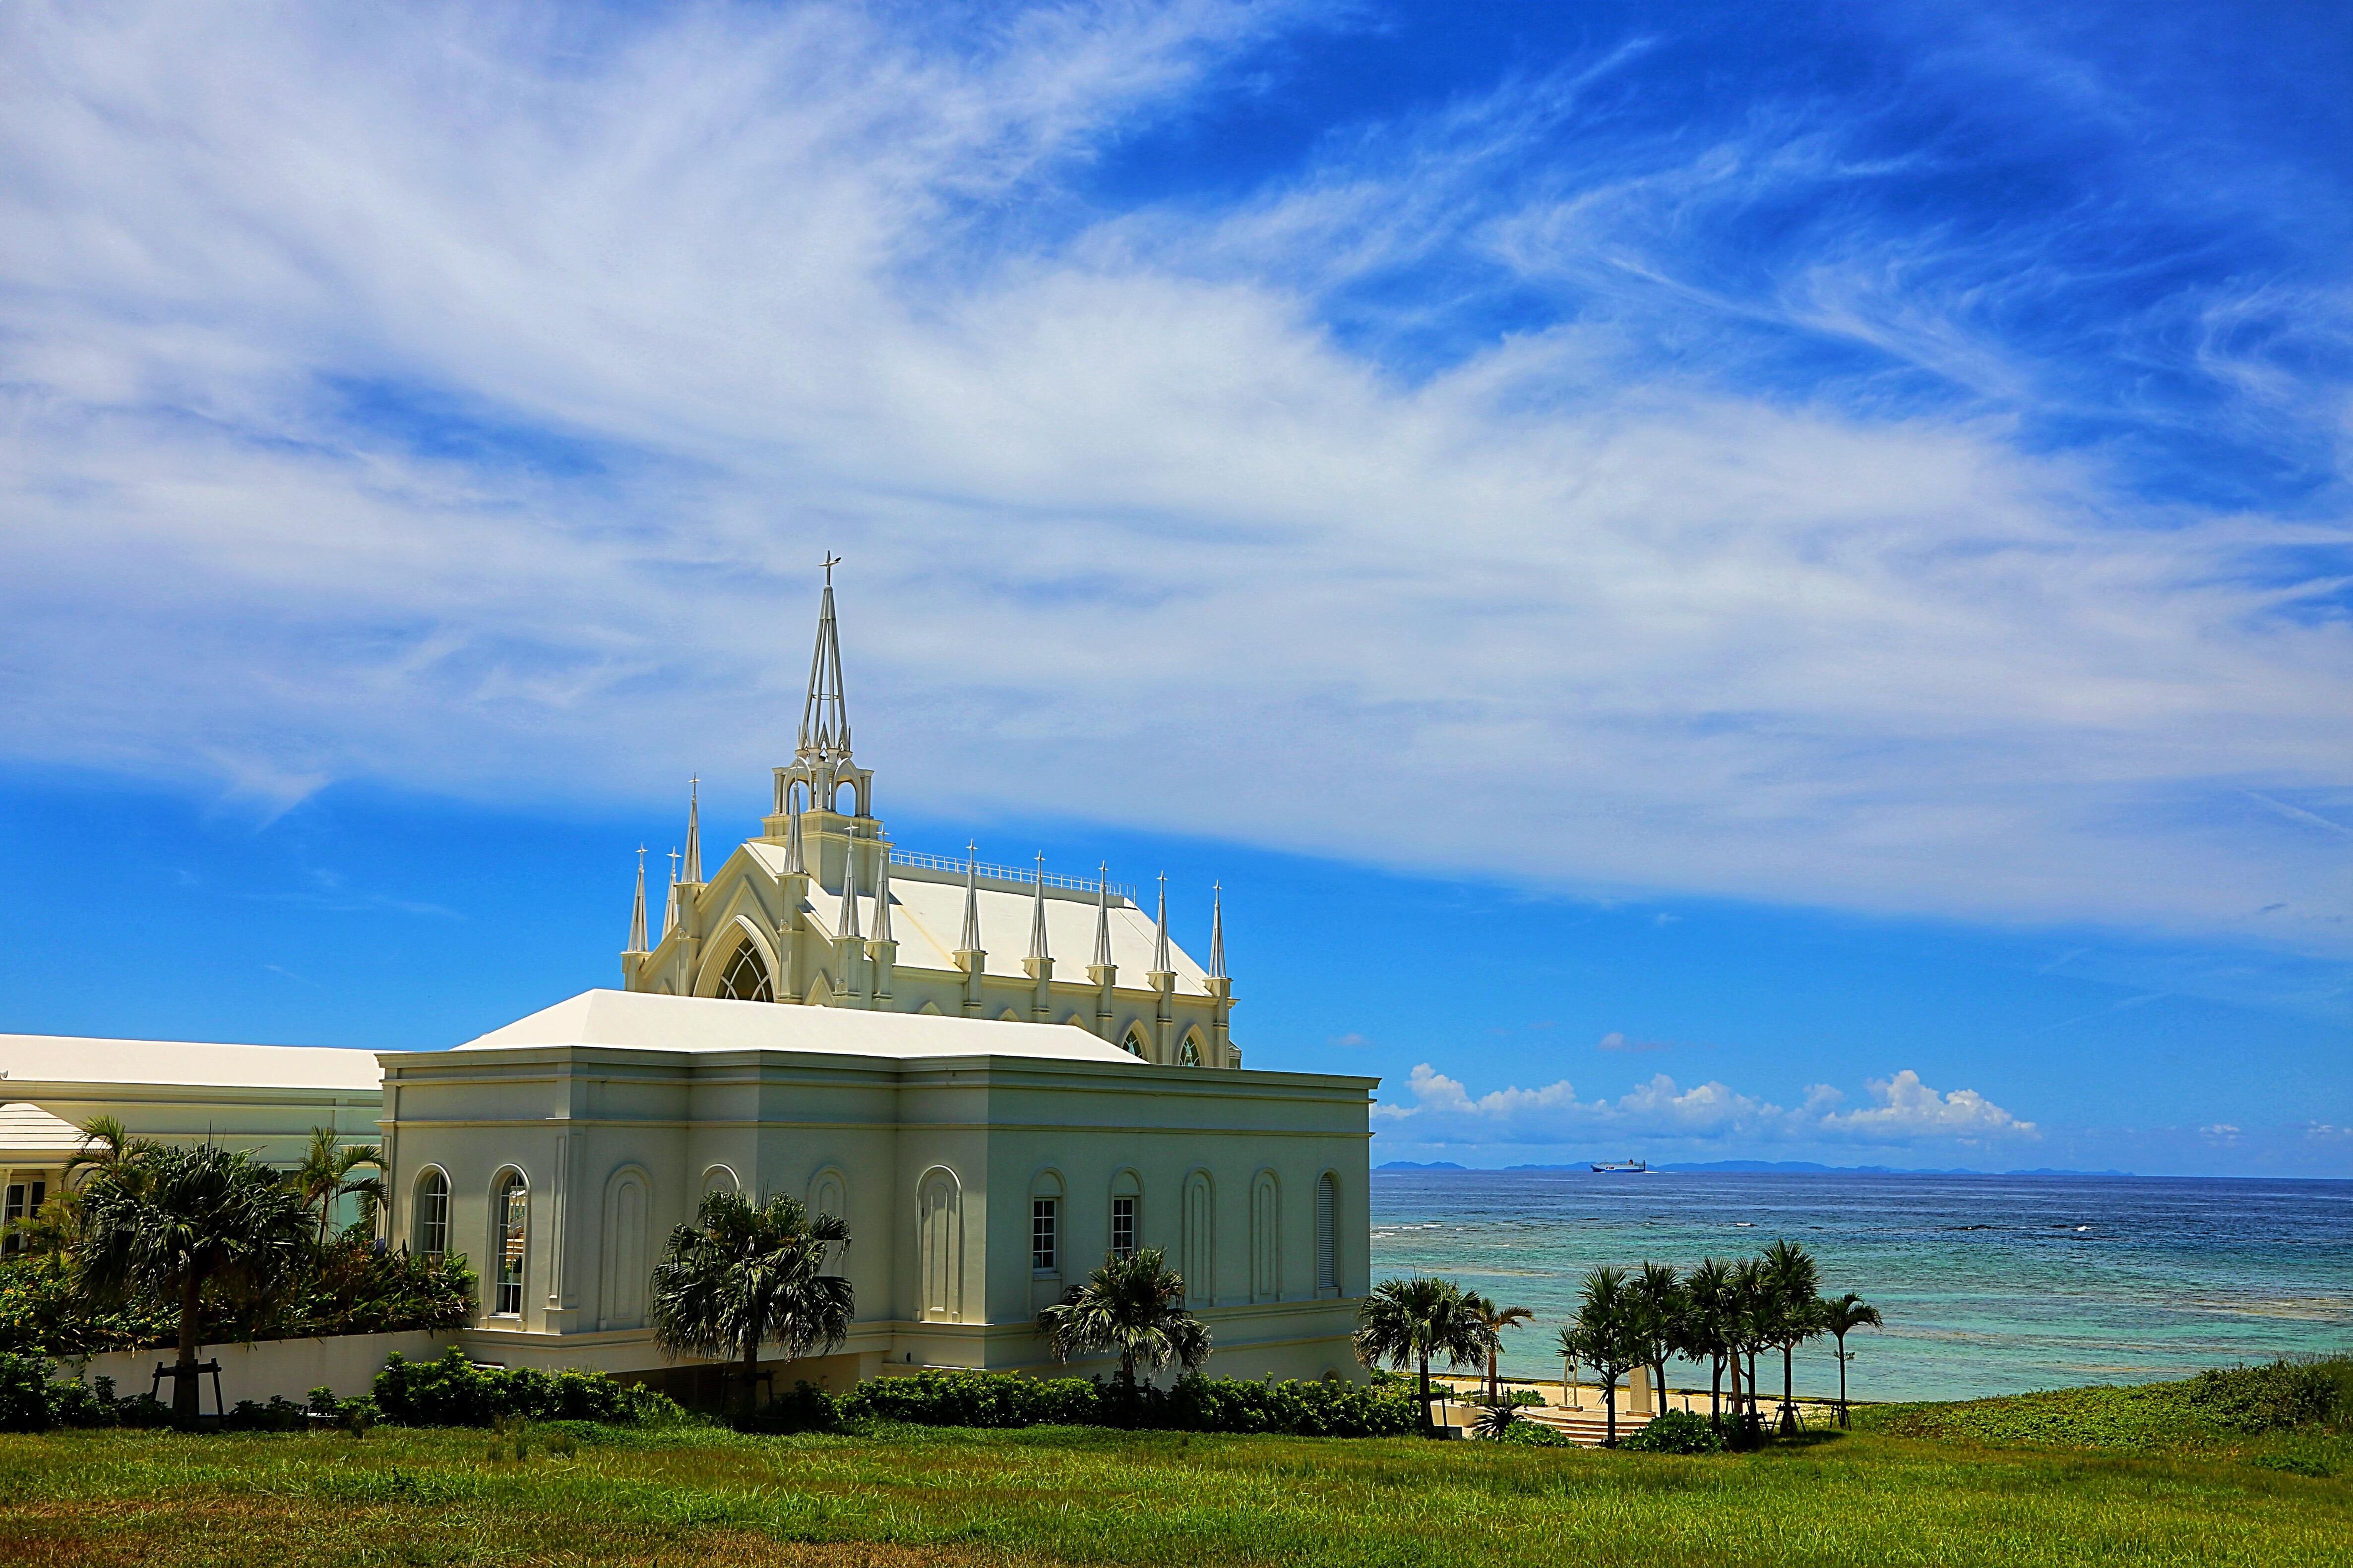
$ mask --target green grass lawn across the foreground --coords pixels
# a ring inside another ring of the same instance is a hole
[[[522,1460],[466,1429],[0,1436],[0,1563],[2353,1563],[2348,1439],[2306,1439],[2327,1476],[2249,1462],[2285,1434],[2115,1453],[1859,1432],[1673,1460],[1080,1427],[572,1432],[574,1453]]]

